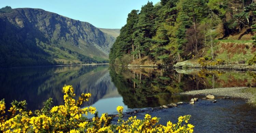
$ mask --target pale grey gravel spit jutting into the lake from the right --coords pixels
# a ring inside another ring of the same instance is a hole
[[[252,93],[242,92],[243,89],[248,87],[232,87],[232,88],[214,88],[204,90],[186,91],[181,94],[184,95],[208,95],[213,94],[214,96],[241,98],[248,100],[248,103],[255,102],[255,95]]]

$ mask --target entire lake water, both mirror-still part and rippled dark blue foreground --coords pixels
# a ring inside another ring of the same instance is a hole
[[[190,123],[195,132],[255,132],[256,108],[244,100],[217,99],[217,103],[199,100],[195,105],[151,110],[169,103],[189,101],[192,97],[177,93],[219,87],[256,87],[255,72],[164,70],[152,68],[128,69],[109,65],[76,65],[60,67],[31,67],[0,70],[0,99],[7,108],[12,100],[26,100],[30,110],[40,109],[43,102],[53,98],[54,105],[63,104],[62,87],[72,85],[76,98],[81,93],[92,97],[83,106],[94,106],[99,114],[117,114],[144,109],[160,117],[160,123],[176,122],[180,115],[192,115]],[[202,96],[198,96],[199,98]],[[89,116],[92,117],[92,116]],[[128,117],[128,116],[125,116]]]

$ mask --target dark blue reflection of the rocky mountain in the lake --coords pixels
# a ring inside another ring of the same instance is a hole
[[[54,105],[63,104],[65,84],[74,86],[76,98],[81,93],[92,93],[85,106],[117,91],[110,80],[108,65],[4,69],[0,75],[0,99],[4,98],[6,103],[26,100],[31,110],[41,108],[48,98],[53,98]]]

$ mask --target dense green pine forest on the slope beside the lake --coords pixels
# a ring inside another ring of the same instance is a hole
[[[255,11],[255,0],[148,1],[128,14],[110,64],[167,66],[207,53],[207,60],[214,60],[216,40],[255,40]]]

